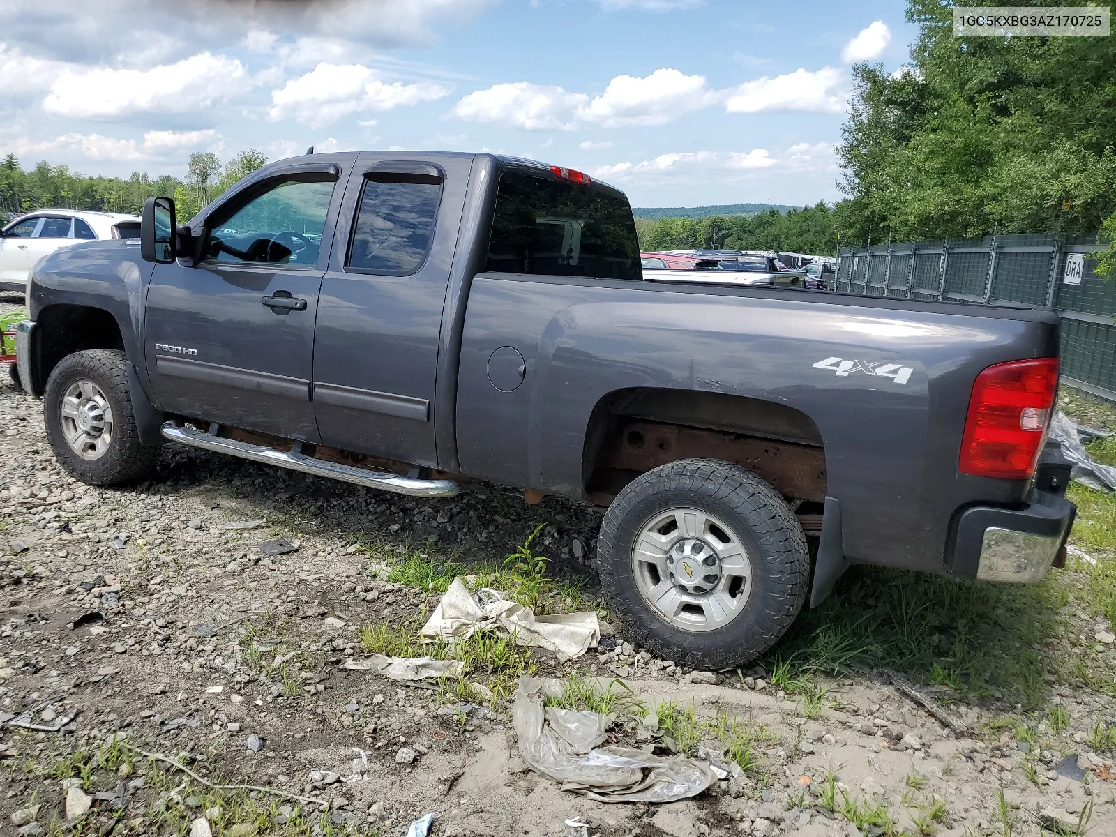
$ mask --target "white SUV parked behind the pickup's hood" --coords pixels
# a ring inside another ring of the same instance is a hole
[[[0,232],[0,290],[26,292],[35,263],[60,247],[97,239],[134,238],[140,238],[138,215],[37,210]]]

